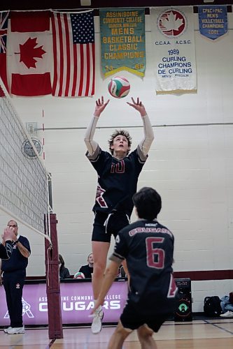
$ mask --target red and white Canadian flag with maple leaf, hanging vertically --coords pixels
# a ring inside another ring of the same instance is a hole
[[[50,11],[11,12],[8,27],[7,70],[10,94],[50,94],[52,34]]]

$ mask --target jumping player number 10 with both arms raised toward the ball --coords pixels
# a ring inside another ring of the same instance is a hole
[[[94,211],[94,224],[92,230],[92,253],[94,258],[94,271],[92,275],[92,288],[94,299],[97,299],[104,278],[108,249],[111,234],[118,235],[120,229],[129,224],[129,219],[134,207],[132,195],[136,193],[139,174],[146,163],[150,145],[153,142],[153,128],[146,113],[144,105],[139,98],[132,103],[127,103],[141,114],[143,121],[144,137],[134,151],[129,154],[131,137],[125,130],[116,130],[108,140],[109,150],[103,151],[93,140],[94,131],[101,112],[108,105],[104,103],[103,96],[96,101],[94,117],[85,133],[87,158],[98,174],[98,184]],[[124,265],[125,272],[127,266]],[[129,274],[127,273],[129,276]],[[101,306],[94,313],[92,332],[97,334],[101,330],[103,318]]]

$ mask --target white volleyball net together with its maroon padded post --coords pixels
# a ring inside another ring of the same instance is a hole
[[[48,333],[50,339],[63,338],[57,221],[55,214],[51,214],[50,207],[51,177],[45,170],[20,117],[10,103],[1,79],[0,89],[3,91],[2,93],[0,90],[0,209],[46,238]],[[27,141],[34,150],[34,156],[25,154],[23,147]]]

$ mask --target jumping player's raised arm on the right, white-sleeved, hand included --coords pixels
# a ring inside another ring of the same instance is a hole
[[[154,133],[153,133],[153,128],[150,124],[150,119],[139,97],[136,98],[136,101],[134,101],[134,98],[132,98],[132,103],[127,102],[127,104],[130,105],[131,107],[134,107],[134,109],[138,110],[141,114],[141,119],[143,120],[144,137],[139,143],[139,148],[143,152],[143,155],[146,156],[154,140]]]

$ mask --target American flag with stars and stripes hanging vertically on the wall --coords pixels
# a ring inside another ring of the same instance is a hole
[[[92,96],[95,76],[93,10],[52,13],[52,40],[52,96]]]

